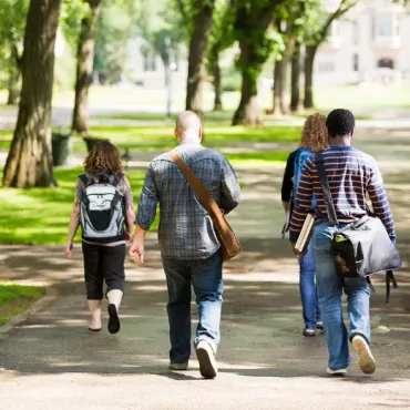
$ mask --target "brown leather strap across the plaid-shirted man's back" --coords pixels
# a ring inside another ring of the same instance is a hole
[[[214,218],[223,214],[219,206],[216,204],[209,191],[201,183],[201,181],[195,176],[193,171],[186,165],[176,151],[170,151],[168,155],[171,160],[174,161],[176,166],[180,168],[182,174],[185,176],[189,186],[194,191],[196,197],[198,198],[201,205],[207,211],[207,213]]]

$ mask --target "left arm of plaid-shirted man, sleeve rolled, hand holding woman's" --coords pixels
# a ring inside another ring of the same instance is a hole
[[[148,171],[146,172],[144,186],[140,197],[139,209],[134,221],[134,239],[130,249],[130,256],[136,264],[144,262],[145,235],[155,219],[156,205],[158,202],[158,192],[155,184],[154,171],[151,164]]]

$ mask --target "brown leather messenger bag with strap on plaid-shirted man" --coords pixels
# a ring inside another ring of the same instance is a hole
[[[195,176],[193,171],[185,164],[178,153],[176,151],[171,151],[168,154],[185,176],[201,205],[207,211],[214,222],[216,236],[221,244],[223,260],[232,259],[240,253],[242,248],[234,230],[225,219],[224,213],[221,211],[208,189]]]

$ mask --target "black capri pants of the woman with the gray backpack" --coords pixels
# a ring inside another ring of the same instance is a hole
[[[104,279],[106,293],[114,289],[124,291],[125,244],[102,246],[83,242],[82,248],[88,300],[103,298]]]

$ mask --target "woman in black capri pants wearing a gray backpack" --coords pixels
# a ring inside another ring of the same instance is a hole
[[[75,186],[71,213],[68,258],[73,250],[73,238],[82,227],[82,250],[86,299],[91,312],[91,331],[101,330],[103,285],[109,299],[109,331],[120,330],[119,308],[125,286],[125,242],[132,238],[135,214],[133,196],[119,150],[110,142],[99,142],[84,162],[85,173]]]

